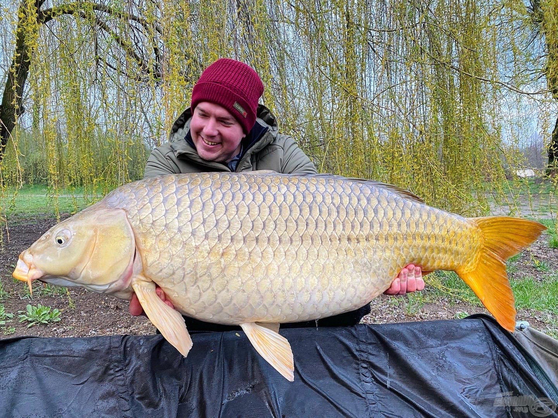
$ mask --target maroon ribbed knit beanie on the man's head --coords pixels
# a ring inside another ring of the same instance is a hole
[[[258,99],[263,93],[262,80],[244,62],[220,58],[201,73],[192,91],[190,108],[201,101],[223,106],[238,119],[244,133],[256,123]]]

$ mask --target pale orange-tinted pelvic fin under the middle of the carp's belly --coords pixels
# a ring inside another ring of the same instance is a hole
[[[288,381],[295,380],[291,344],[274,330],[256,322],[240,324],[256,351]],[[270,325],[270,324],[266,324]]]

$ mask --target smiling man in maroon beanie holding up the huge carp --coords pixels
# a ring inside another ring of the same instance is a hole
[[[170,142],[155,148],[147,160],[144,177],[209,171],[272,170],[289,174],[317,174],[310,158],[288,135],[278,133],[275,116],[258,100],[263,84],[256,71],[242,62],[222,58],[201,74],[192,91],[190,108],[172,125]],[[408,265],[393,280],[386,294],[422,290],[421,269]],[[157,288],[157,294],[166,300]],[[132,315],[142,314],[135,295]],[[353,312],[292,326],[357,324],[370,312],[369,304]],[[190,330],[225,330],[230,327],[185,318]]]

